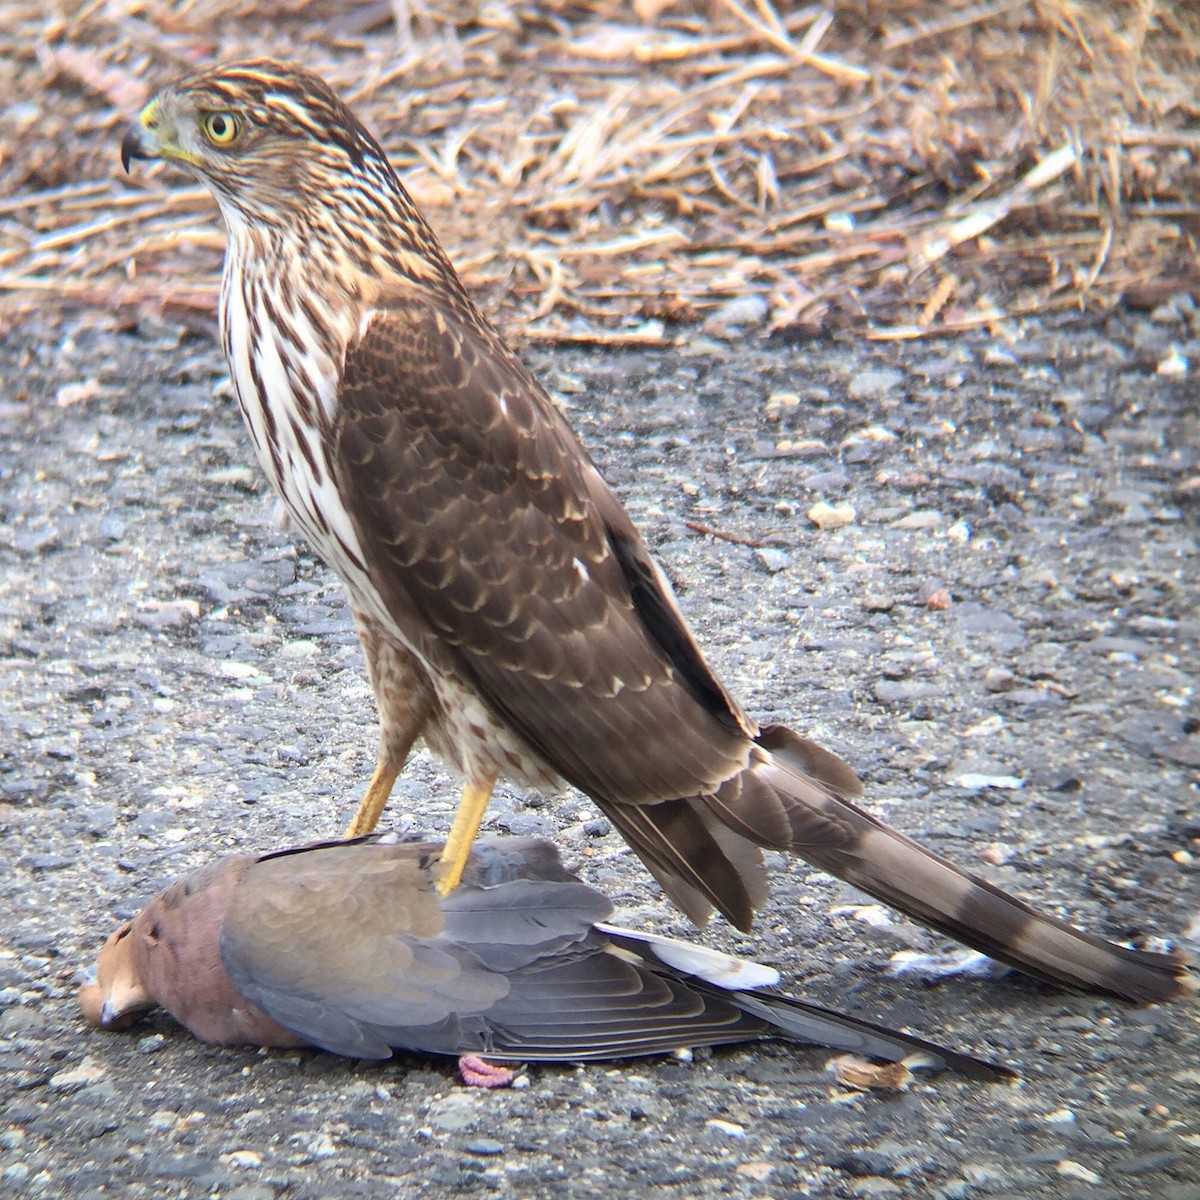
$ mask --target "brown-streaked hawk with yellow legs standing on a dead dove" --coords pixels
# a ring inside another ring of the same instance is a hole
[[[382,714],[350,833],[414,740],[466,776],[443,887],[497,776],[590,796],[694,919],[742,929],[786,850],[1044,978],[1187,986],[922,850],[850,800],[840,758],[742,712],[617,498],[468,298],[376,139],[318,78],[203,71],[122,161],[190,168],[229,234],[221,330],[271,484],[349,589]]]

